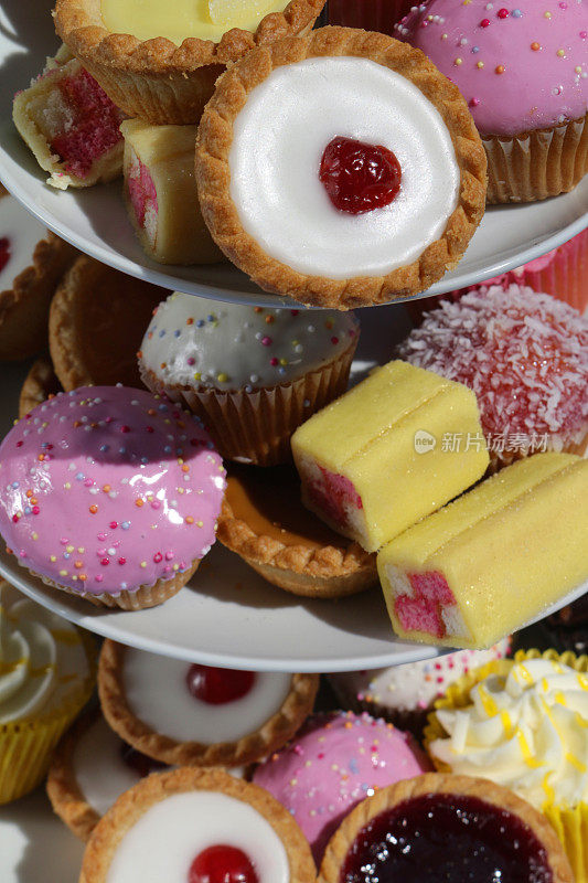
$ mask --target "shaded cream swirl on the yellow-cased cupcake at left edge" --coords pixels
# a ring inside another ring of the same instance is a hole
[[[0,725],[60,709],[89,675],[79,631],[0,583]]]

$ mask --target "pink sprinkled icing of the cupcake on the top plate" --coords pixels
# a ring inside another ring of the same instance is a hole
[[[484,135],[582,119],[588,106],[588,0],[427,0],[395,35],[460,89]]]

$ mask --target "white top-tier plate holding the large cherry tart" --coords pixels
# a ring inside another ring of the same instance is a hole
[[[233,266],[172,267],[149,260],[135,238],[121,200],[120,181],[87,190],[56,191],[11,123],[12,95],[39,74],[57,42],[53,0],[2,0],[0,9],[0,179],[26,209],[81,251],[132,276],[188,294],[284,306]],[[588,178],[573,193],[528,205],[492,208],[458,269],[427,294],[488,279],[538,257],[588,224]]]

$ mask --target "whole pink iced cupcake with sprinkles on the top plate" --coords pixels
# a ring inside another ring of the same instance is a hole
[[[588,171],[587,12],[582,0],[429,0],[397,25],[468,102],[490,203],[555,196]]]

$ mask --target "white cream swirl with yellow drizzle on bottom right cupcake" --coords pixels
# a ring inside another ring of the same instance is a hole
[[[588,800],[588,674],[545,659],[513,663],[439,709],[449,734],[429,751],[453,773],[483,776],[541,808]]]

